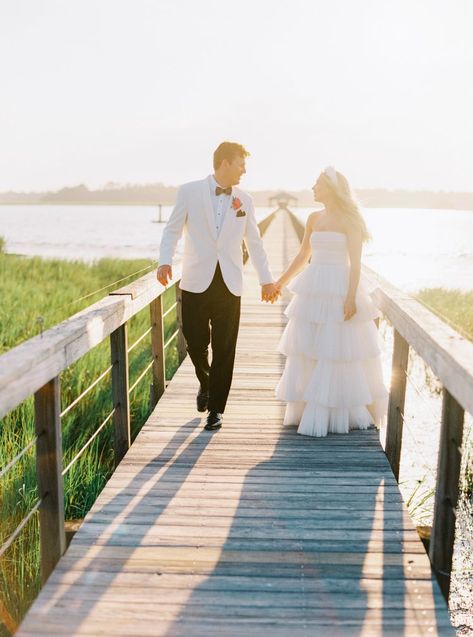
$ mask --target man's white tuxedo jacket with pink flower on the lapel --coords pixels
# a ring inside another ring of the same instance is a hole
[[[161,239],[159,265],[172,265],[176,245],[184,232],[185,244],[180,287],[188,292],[204,292],[213,278],[217,263],[232,294],[243,291],[242,241],[245,241],[261,285],[272,283],[268,259],[256,224],[253,201],[246,192],[232,189],[229,207],[217,236],[215,215],[210,198],[210,178],[181,186],[176,204]],[[245,216],[237,217],[233,198],[242,202]]]

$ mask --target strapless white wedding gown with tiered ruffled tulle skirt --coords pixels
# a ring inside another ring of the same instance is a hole
[[[286,364],[276,395],[287,403],[284,424],[306,436],[348,433],[379,425],[386,413],[379,315],[363,279],[356,314],[343,320],[348,290],[347,239],[341,232],[313,232],[310,264],[289,284],[294,296],[279,343]]]

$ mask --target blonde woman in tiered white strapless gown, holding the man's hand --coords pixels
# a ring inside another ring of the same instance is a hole
[[[348,181],[333,167],[321,173],[313,192],[324,210],[307,219],[299,253],[276,283],[291,282],[294,294],[279,343],[287,358],[276,395],[287,403],[284,424],[326,436],[379,425],[387,391],[378,311],[360,283],[366,224]]]

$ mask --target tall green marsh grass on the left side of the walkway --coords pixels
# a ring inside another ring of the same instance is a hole
[[[0,352],[35,336],[40,329],[60,323],[111,290],[145,274],[121,281],[89,296],[110,283],[147,268],[149,260],[103,259],[82,262],[23,258],[0,251]],[[81,297],[87,296],[80,301]],[[174,302],[174,290],[164,295],[164,308]],[[38,322],[42,317],[42,322]],[[175,329],[176,315],[165,319],[165,337]],[[145,308],[129,322],[129,344],[149,326]],[[150,336],[130,353],[130,386],[151,360]],[[106,339],[61,374],[61,407],[64,409],[110,364]],[[169,347],[166,375],[177,368],[177,351]],[[132,436],[149,414],[151,372],[130,397]],[[112,409],[110,375],[62,420],[63,466],[88,440]],[[113,424],[110,422],[65,476],[67,519],[83,518],[113,471]],[[0,467],[11,460],[34,435],[33,399],[29,398],[0,421]],[[16,528],[37,498],[34,448],[0,480],[0,544]],[[39,534],[34,516],[20,537],[0,559],[0,636],[11,634],[39,590]]]

